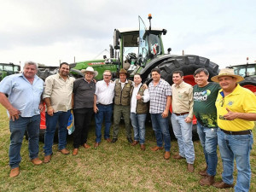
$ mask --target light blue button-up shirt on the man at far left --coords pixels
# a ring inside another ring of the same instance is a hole
[[[20,111],[21,117],[40,114],[39,104],[43,90],[44,81],[37,75],[32,84],[23,73],[10,75],[0,83],[0,92],[8,96],[9,102]]]

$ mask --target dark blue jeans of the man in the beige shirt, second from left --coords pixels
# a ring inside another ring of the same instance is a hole
[[[67,112],[58,111],[53,116],[46,113],[46,131],[44,135],[44,154],[52,154],[52,145],[55,137],[56,125],[59,123],[58,137],[59,150],[66,148],[67,145],[67,123],[70,116],[70,110]]]

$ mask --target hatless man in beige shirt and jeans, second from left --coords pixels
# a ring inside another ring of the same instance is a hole
[[[47,106],[46,131],[44,135],[44,163],[48,163],[52,155],[55,129],[59,123],[59,151],[69,154],[67,145],[67,123],[72,108],[72,77],[68,76],[69,65],[62,62],[59,73],[45,79],[44,102]]]

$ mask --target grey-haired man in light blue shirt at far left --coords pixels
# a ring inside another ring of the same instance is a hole
[[[10,146],[9,177],[20,173],[20,148],[25,131],[28,134],[29,156],[34,165],[42,164],[38,159],[40,112],[43,110],[41,95],[44,81],[36,75],[38,65],[27,61],[23,73],[10,75],[0,83],[0,103],[9,115]]]

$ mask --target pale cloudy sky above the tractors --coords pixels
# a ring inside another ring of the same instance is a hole
[[[0,0],[0,62],[58,66],[109,55],[115,28],[165,28],[171,54],[200,55],[220,68],[256,62],[254,0]]]

